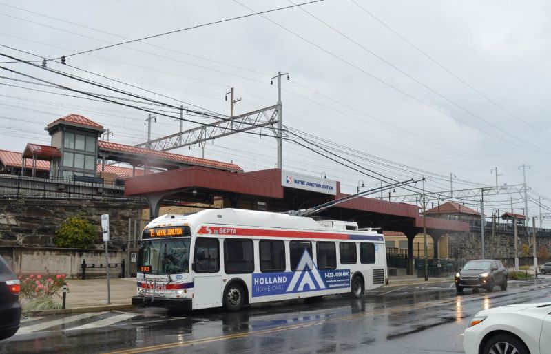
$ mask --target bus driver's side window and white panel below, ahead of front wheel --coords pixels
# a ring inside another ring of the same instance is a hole
[[[194,309],[222,306],[220,242],[218,238],[197,238],[194,251]]]

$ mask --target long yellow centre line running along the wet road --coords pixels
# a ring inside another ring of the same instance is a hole
[[[534,289],[545,289],[545,288],[548,288],[548,287],[551,287],[551,284],[544,285],[543,287],[526,287],[526,288],[523,288],[523,289],[519,289],[518,291],[511,291],[509,293],[523,293],[523,292],[531,291],[531,290],[534,290]],[[461,296],[461,299],[465,300],[465,301],[477,300],[479,298],[483,298],[484,295],[488,295],[488,294],[482,293],[482,294],[472,294],[472,295],[466,295],[466,296],[464,295],[464,296]],[[492,298],[493,297],[498,297],[498,296],[499,295],[492,296]],[[167,344],[158,344],[158,345],[155,345],[155,346],[145,346],[145,347],[141,347],[141,348],[123,349],[121,351],[112,351],[112,352],[108,352],[108,353],[104,353],[104,354],[132,354],[132,353],[145,353],[145,352],[149,352],[149,351],[163,351],[163,350],[167,350],[167,349],[171,349],[171,348],[183,348],[183,347],[191,346],[191,345],[194,345],[194,344],[207,344],[207,343],[210,343],[210,342],[218,342],[218,341],[221,341],[221,340],[233,340],[233,339],[238,339],[238,338],[242,338],[242,337],[248,337],[250,335],[264,335],[264,334],[269,334],[269,333],[288,331],[289,329],[302,329],[302,328],[306,328],[306,327],[309,327],[309,326],[315,326],[315,325],[319,325],[319,324],[328,324],[328,323],[333,323],[333,322],[357,320],[357,319],[360,319],[362,317],[368,317],[368,316],[371,316],[371,315],[384,315],[386,313],[399,313],[399,312],[404,312],[404,311],[416,311],[416,310],[420,310],[420,309],[426,309],[429,306],[430,307],[441,306],[443,304],[454,304],[455,302],[457,302],[457,297],[446,299],[446,300],[440,300],[438,302],[422,302],[422,303],[417,304],[416,306],[402,305],[402,306],[395,307],[394,309],[385,309],[383,311],[370,311],[370,312],[365,312],[365,313],[356,313],[355,315],[345,315],[345,316],[341,316],[341,317],[335,317],[335,318],[332,318],[332,319],[313,321],[313,322],[309,322],[309,323],[291,324],[291,325],[287,325],[287,326],[277,326],[277,327],[274,327],[273,329],[248,331],[248,332],[243,332],[243,333],[235,333],[235,334],[231,334],[231,335],[219,335],[219,336],[216,336],[216,337],[207,337],[207,338],[202,338],[202,339],[197,339],[197,340],[187,340],[187,341],[184,340],[184,341],[167,343]]]

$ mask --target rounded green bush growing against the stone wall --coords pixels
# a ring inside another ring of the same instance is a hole
[[[86,249],[94,246],[96,229],[81,216],[70,216],[56,230],[56,246]]]

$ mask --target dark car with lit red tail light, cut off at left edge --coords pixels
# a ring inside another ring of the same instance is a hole
[[[19,329],[19,279],[0,256],[0,340],[11,337]]]

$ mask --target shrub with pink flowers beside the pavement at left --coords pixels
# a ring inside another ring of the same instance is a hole
[[[24,306],[27,311],[55,309],[59,307],[54,302],[53,297],[57,295],[61,298],[59,290],[63,287],[63,283],[65,283],[65,274],[50,277],[29,275],[25,279],[19,277],[19,281],[21,282],[19,295],[23,300],[28,302]]]

